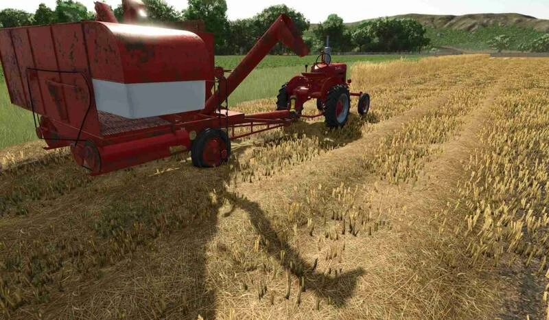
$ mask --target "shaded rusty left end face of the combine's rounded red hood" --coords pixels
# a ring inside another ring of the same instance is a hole
[[[106,25],[99,22],[84,22],[84,36],[91,77],[124,82],[118,45]]]

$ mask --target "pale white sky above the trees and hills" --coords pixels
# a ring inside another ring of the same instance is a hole
[[[79,0],[93,11],[94,0]],[[177,10],[187,7],[186,0],[165,0]],[[469,14],[469,13],[507,13],[516,12],[549,19],[549,0],[226,0],[227,15],[230,20],[249,18],[270,5],[285,3],[303,13],[311,23],[324,21],[329,14],[335,13],[345,22],[354,22],[379,16],[396,14]],[[0,10],[16,8],[34,12],[39,3],[55,7],[56,0],[0,0]],[[121,0],[106,0],[116,7]]]

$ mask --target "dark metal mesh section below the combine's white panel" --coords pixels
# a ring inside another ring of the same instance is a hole
[[[97,111],[97,113],[99,114],[102,135],[116,135],[118,133],[127,133],[130,131],[153,128],[155,126],[166,126],[170,124],[170,122],[162,119],[161,117],[128,119],[104,111]]]

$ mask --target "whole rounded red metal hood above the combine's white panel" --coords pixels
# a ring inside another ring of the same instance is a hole
[[[204,41],[192,32],[97,21],[86,21],[84,30],[94,79],[207,80],[213,69]]]

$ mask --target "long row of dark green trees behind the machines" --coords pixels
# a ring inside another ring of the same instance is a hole
[[[143,3],[153,23],[205,21],[207,31],[214,34],[216,54],[248,52],[281,13],[288,14],[294,21],[312,53],[324,47],[326,36],[329,36],[333,52],[419,52],[430,43],[425,36],[425,27],[412,19],[383,18],[348,26],[337,14],[330,14],[325,21],[311,25],[301,12],[287,5],[272,5],[251,18],[229,21],[225,0],[188,0],[188,8],[183,11],[176,10],[164,0],[143,0]],[[122,21],[124,12],[121,4],[113,12]],[[89,12],[78,1],[57,0],[55,8],[40,3],[34,13],[2,10],[0,27],[76,22],[94,19],[94,16],[94,12]],[[271,53],[285,54],[288,49],[277,45]]]

